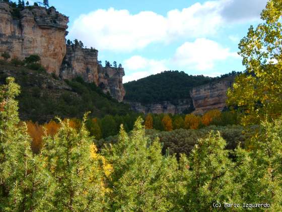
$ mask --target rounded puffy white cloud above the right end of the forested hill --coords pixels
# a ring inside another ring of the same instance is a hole
[[[229,57],[239,56],[237,52],[231,52],[213,40],[197,38],[194,42],[185,42],[178,47],[172,62],[181,67],[203,71],[213,69],[216,61]]]

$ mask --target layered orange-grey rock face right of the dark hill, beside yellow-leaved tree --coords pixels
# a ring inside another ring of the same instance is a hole
[[[209,110],[222,111],[226,106],[227,89],[232,86],[232,80],[223,80],[194,87],[190,91],[195,108],[194,114],[203,114]]]

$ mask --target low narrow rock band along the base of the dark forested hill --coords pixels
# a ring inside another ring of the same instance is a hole
[[[191,99],[180,99],[177,104],[172,104],[169,101],[164,101],[156,104],[142,105],[139,102],[125,102],[131,105],[132,110],[144,114],[181,114],[185,110],[189,110],[192,106]]]

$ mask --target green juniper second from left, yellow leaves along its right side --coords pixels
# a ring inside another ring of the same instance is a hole
[[[54,138],[44,138],[42,156],[53,187],[48,199],[52,206],[44,210],[101,211],[106,207],[103,163],[85,121],[79,130],[70,127],[68,120],[60,123]]]

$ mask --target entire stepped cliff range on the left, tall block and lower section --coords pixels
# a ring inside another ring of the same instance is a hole
[[[20,13],[15,14],[15,10]],[[0,2],[0,53],[7,51],[11,59],[20,60],[38,55],[48,73],[55,73],[62,79],[81,76],[122,101],[125,95],[122,85],[124,70],[98,65],[96,49],[66,46],[67,23],[68,17],[53,7],[33,6],[19,11]]]

